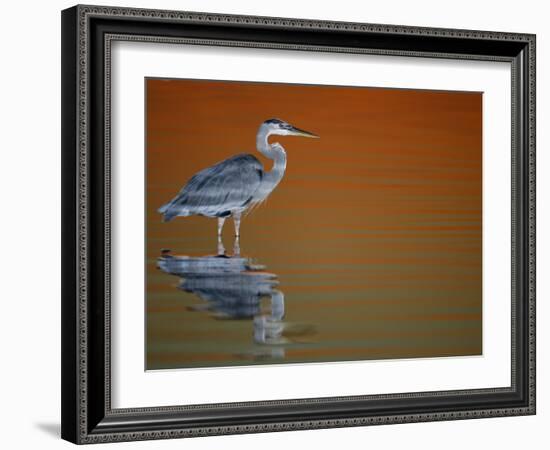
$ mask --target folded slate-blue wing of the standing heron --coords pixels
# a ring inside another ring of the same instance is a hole
[[[263,167],[256,157],[233,156],[195,174],[159,212],[165,220],[178,215],[229,215],[252,200],[262,176]]]

